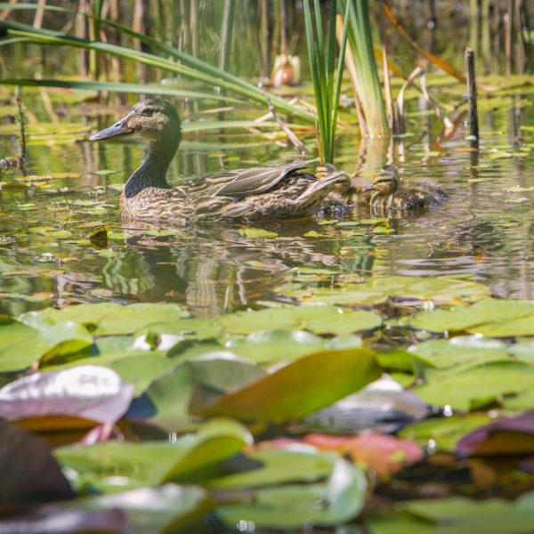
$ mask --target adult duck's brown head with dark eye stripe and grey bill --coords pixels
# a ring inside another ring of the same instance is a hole
[[[182,128],[180,117],[170,101],[148,98],[134,105],[134,108],[114,125],[93,134],[89,141],[101,141],[117,135],[141,135],[153,142],[172,139],[180,142]]]

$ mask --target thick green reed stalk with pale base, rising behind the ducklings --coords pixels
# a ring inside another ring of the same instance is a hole
[[[373,52],[373,39],[367,0],[339,0],[339,4],[346,10],[348,4],[354,9],[348,12],[349,19],[348,39],[352,48],[357,74],[355,83],[363,111],[368,135],[384,136],[389,133],[389,125],[385,113],[384,96],[376,69]]]

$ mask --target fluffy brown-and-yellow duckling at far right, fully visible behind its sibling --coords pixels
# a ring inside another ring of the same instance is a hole
[[[449,198],[449,195],[432,180],[426,178],[401,180],[399,170],[394,165],[383,166],[373,183],[363,190],[375,191],[369,200],[372,210],[433,207]]]

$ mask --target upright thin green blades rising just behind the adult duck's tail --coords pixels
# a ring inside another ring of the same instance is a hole
[[[344,53],[348,31],[348,15],[351,12],[352,3],[349,2],[346,5],[343,37],[341,39],[337,72],[335,76],[337,2],[336,0],[333,0],[330,4],[328,49],[326,51],[323,42],[320,3],[318,0],[313,0],[313,2],[315,11],[315,31],[312,24],[310,0],[306,0],[303,3],[303,6],[308,57],[310,60],[310,70],[312,72],[315,103],[317,106],[320,155],[322,161],[333,163],[334,145],[336,140],[337,110],[343,77]]]

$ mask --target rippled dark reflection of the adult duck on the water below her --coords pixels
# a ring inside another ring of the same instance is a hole
[[[262,227],[276,231],[277,239],[248,239],[239,234],[238,224],[225,226],[206,223],[154,238],[146,233],[154,226],[125,221],[127,244],[154,280],[141,299],[183,303],[194,316],[215,317],[277,296],[292,267],[346,268],[334,229],[329,230],[332,239],[311,239],[301,237],[310,230],[306,221],[272,223]]]

